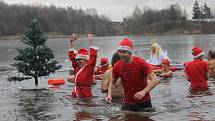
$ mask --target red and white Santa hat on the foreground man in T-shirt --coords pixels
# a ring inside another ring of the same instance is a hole
[[[119,46],[117,48],[117,50],[126,50],[132,53],[133,50],[133,43],[131,40],[125,38],[123,39],[120,43]]]

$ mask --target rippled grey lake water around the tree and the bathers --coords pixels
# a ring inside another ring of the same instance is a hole
[[[121,37],[98,37],[99,57],[111,57],[116,51]],[[149,57],[149,42],[155,37],[135,36],[135,54],[143,58]],[[174,62],[182,63],[192,59],[190,54],[194,45],[201,46],[205,52],[214,49],[215,35],[195,36],[158,36],[161,46],[168,51]],[[87,47],[86,38],[77,41],[76,46]],[[48,88],[49,78],[68,76],[71,67],[67,52],[67,38],[49,39],[48,45],[54,50],[56,59],[63,68],[39,81],[40,88]],[[73,84],[66,82],[59,89],[43,91],[21,91],[34,88],[33,80],[20,83],[9,83],[6,78],[15,73],[9,65],[16,55],[15,48],[24,47],[17,40],[0,41],[0,121],[72,121],[72,120],[127,120],[127,121],[176,121],[176,120],[215,120],[215,81],[209,81],[209,90],[190,92],[189,83],[183,72],[174,72],[171,79],[161,80],[161,84],[152,92],[152,103],[155,112],[122,112],[120,99],[113,104],[106,104],[105,94],[100,92],[100,82],[93,85],[94,97],[74,99],[70,97]]]

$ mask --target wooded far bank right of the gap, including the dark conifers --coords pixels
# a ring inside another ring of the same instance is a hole
[[[194,6],[196,2],[194,3]],[[193,8],[193,11],[196,8]],[[193,20],[188,19],[185,9],[178,4],[172,4],[161,10],[143,7],[135,7],[132,15],[124,18],[124,30],[130,34],[193,34],[214,33],[214,16],[205,3],[202,10],[201,20],[210,18],[210,21],[197,21],[196,13],[193,13]],[[198,14],[199,15],[199,14]]]

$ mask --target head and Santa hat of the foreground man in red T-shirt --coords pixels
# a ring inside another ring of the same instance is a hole
[[[133,51],[133,43],[131,40],[125,38],[123,39],[117,48],[119,56],[125,62],[129,62],[131,60],[131,55]]]

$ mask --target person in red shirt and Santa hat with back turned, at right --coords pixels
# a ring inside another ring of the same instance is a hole
[[[185,73],[187,80],[191,82],[191,89],[208,87],[208,64],[203,61],[204,51],[200,47],[192,49],[194,60],[186,63]]]

